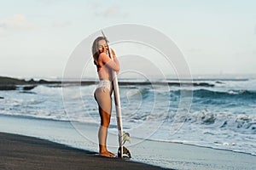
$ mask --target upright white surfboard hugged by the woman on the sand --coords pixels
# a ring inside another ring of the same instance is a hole
[[[113,59],[113,55],[111,53],[111,47],[108,44],[108,39],[104,35],[102,31],[103,37],[106,38],[106,42],[108,45],[108,55],[111,59]],[[121,102],[120,102],[120,96],[119,96],[119,82],[118,77],[116,74],[116,71],[112,71],[112,77],[113,77],[113,96],[114,96],[114,103],[115,103],[115,110],[116,110],[116,121],[119,131],[119,157],[123,158],[123,122],[122,122],[122,111],[121,111]]]

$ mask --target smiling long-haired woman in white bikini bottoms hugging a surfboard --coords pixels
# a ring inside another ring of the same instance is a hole
[[[97,68],[100,82],[94,93],[94,97],[99,106],[101,116],[101,127],[99,128],[99,155],[107,157],[116,157],[113,153],[107,150],[106,141],[108,134],[108,126],[111,117],[113,92],[112,71],[119,72],[119,60],[116,58],[113,49],[111,49],[113,60],[108,56],[108,44],[104,37],[97,37],[92,45],[92,54],[94,64]]]

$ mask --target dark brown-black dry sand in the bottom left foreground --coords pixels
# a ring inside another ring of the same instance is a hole
[[[0,133],[0,145],[1,169],[166,169],[13,133]]]

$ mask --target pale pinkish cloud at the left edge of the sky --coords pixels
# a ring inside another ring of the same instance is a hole
[[[5,30],[29,30],[32,24],[26,20],[22,14],[15,14],[3,20],[0,20],[0,29]]]

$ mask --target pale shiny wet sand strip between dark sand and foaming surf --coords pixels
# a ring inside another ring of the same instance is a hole
[[[64,144],[68,148],[75,148],[75,150],[97,150],[98,147],[96,143],[92,143],[76,131],[70,122],[3,115],[0,115],[0,117],[0,129],[3,133],[15,133],[48,140],[57,144]],[[88,135],[92,135],[95,134],[95,128],[97,127],[88,124],[82,130],[86,131]],[[108,137],[108,143],[112,139],[117,142],[116,136],[109,134]],[[131,140],[132,143],[136,143],[136,139]],[[138,144],[128,145],[127,148],[131,151],[132,158],[130,161],[160,166],[160,168],[188,170],[256,169],[256,156],[231,150],[217,150],[190,144],[152,140],[144,140]],[[117,148],[109,147],[109,150],[114,152]],[[90,153],[96,152],[90,151]]]

